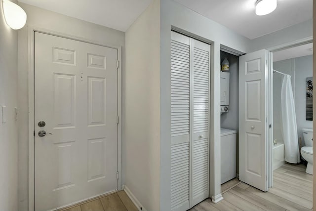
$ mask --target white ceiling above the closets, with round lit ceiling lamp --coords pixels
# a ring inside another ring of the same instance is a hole
[[[303,21],[313,15],[313,0],[277,0],[276,10],[255,14],[256,0],[175,0],[249,39],[255,39]]]

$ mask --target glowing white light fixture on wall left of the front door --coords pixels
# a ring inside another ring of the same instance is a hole
[[[9,0],[1,0],[6,24],[11,29],[21,29],[26,23],[26,12]]]

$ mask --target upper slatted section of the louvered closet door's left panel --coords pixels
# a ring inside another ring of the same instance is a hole
[[[190,130],[190,45],[171,40],[171,136]]]

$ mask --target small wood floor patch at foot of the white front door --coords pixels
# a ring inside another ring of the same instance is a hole
[[[124,191],[118,191],[62,211],[138,211],[138,209]]]

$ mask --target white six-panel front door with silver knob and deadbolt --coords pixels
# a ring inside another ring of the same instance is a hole
[[[34,47],[36,211],[116,190],[117,49],[38,32]]]

